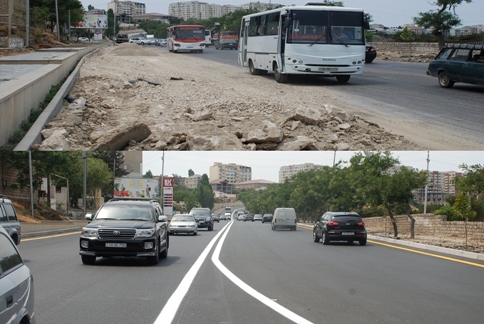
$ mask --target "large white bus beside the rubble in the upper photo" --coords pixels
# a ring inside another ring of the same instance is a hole
[[[362,9],[307,4],[242,17],[238,61],[251,74],[335,76],[362,74],[365,28]]]

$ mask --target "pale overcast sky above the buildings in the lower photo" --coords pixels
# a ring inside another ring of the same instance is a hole
[[[336,162],[349,161],[355,152],[336,152]],[[163,152],[143,152],[142,173],[151,170],[153,175],[160,175],[162,171]],[[400,160],[403,165],[412,166],[419,170],[427,169],[427,151],[395,151],[392,156]],[[178,174],[188,176],[192,169],[196,174],[209,175],[210,167],[215,162],[235,163],[252,168],[252,180],[269,180],[279,182],[281,166],[291,164],[314,163],[333,165],[334,152],[265,152],[265,151],[166,151],[164,174]],[[430,171],[462,171],[461,164],[484,164],[484,151],[430,151]]]

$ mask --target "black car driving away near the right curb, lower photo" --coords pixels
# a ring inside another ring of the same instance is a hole
[[[327,212],[321,216],[313,227],[313,241],[329,244],[330,241],[358,241],[366,245],[365,223],[360,215],[354,212]]]

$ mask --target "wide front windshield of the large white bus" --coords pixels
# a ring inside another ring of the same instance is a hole
[[[363,13],[293,10],[288,44],[364,45]]]

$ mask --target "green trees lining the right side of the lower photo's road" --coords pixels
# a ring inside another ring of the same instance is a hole
[[[238,199],[253,213],[272,213],[277,207],[293,207],[304,220],[313,220],[326,211],[388,215],[395,236],[398,229],[394,215],[406,214],[412,223],[413,236],[415,219],[412,213],[417,206],[413,191],[426,184],[427,173],[397,168],[399,161],[390,152],[357,153],[349,162],[347,167],[342,167],[340,162],[333,167],[298,172],[283,184],[270,185],[264,191],[246,190]],[[484,169],[480,165],[462,167],[471,176],[457,180],[460,198],[446,212],[465,218],[472,218],[478,211],[482,215]]]

